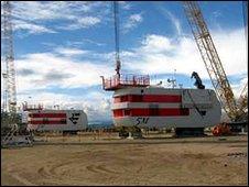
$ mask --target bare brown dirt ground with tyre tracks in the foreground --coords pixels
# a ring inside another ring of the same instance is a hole
[[[32,147],[1,150],[2,185],[248,184],[247,135],[46,139]]]

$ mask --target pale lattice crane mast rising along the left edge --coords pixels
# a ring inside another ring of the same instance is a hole
[[[6,101],[6,111],[17,112],[17,90],[15,90],[15,69],[14,69],[14,55],[13,55],[13,31],[11,22],[11,3],[10,1],[2,2],[2,53],[6,72],[2,72],[3,82],[7,96],[3,98]]]

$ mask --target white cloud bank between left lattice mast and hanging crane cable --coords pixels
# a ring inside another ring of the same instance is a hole
[[[88,61],[74,61],[51,53],[29,54],[17,64],[18,92],[57,86],[62,88],[100,85],[99,76],[110,76],[111,67]],[[23,74],[29,72],[28,75]]]

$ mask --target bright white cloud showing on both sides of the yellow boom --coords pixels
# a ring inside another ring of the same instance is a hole
[[[228,76],[247,73],[243,30],[214,33],[225,72]],[[131,53],[131,52],[130,52]],[[191,75],[197,72],[202,78],[209,79],[197,45],[192,37],[178,37],[177,41],[163,35],[151,34],[142,45],[132,51],[133,56],[126,57],[123,66],[142,74],[169,74],[176,69],[178,74]]]

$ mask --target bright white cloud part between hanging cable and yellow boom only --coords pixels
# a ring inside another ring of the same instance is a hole
[[[193,70],[208,77],[204,63],[192,38],[182,37],[180,42],[171,41],[162,35],[148,35],[142,46],[133,51],[136,58],[124,59],[128,69],[142,74],[177,74],[191,75]]]

